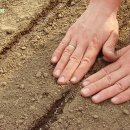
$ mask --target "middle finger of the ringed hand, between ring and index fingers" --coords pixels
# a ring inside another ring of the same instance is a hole
[[[80,61],[81,61],[85,51],[86,51],[86,49],[83,46],[81,46],[81,45],[77,46],[76,50],[71,55],[67,66],[65,67],[60,78],[58,79],[59,84],[65,84],[70,80],[73,73],[79,66]]]

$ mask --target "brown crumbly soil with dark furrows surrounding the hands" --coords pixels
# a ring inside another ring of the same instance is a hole
[[[83,0],[1,0],[0,130],[130,130],[130,103],[95,105],[80,96],[80,83],[60,86],[50,58]],[[130,43],[130,0],[118,13],[117,48]],[[100,55],[89,76],[107,63]]]

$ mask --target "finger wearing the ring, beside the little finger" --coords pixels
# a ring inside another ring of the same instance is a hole
[[[75,45],[71,45],[71,44],[75,44]],[[68,45],[66,47],[66,49],[64,50],[59,62],[56,65],[56,68],[53,72],[54,77],[58,78],[60,76],[60,74],[62,73],[62,71],[64,70],[65,66],[67,65],[67,63],[70,59],[70,56],[72,55],[72,53],[75,50],[74,46],[76,46],[76,41],[73,41],[73,42],[71,41],[70,45]]]

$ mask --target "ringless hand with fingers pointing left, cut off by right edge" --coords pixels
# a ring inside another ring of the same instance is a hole
[[[92,96],[94,103],[112,98],[114,104],[130,100],[130,45],[117,51],[119,58],[83,82],[81,94]]]

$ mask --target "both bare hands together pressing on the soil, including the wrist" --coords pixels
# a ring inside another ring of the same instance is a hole
[[[115,61],[83,82],[81,95],[94,103],[111,98],[114,104],[130,100],[130,46],[115,52],[117,11],[121,0],[91,0],[88,9],[69,28],[55,50],[53,75],[59,84],[77,83],[102,49],[106,61]]]

